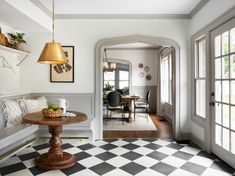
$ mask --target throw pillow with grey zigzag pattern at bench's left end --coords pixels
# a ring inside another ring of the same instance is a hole
[[[16,101],[8,99],[3,100],[2,113],[6,121],[6,127],[17,126],[22,123],[22,111]]]

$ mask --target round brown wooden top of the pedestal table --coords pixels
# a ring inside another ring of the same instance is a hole
[[[36,125],[49,125],[49,126],[58,126],[72,123],[80,123],[87,120],[87,115],[81,112],[70,111],[76,114],[75,117],[55,117],[55,118],[46,118],[42,115],[42,112],[34,112],[26,114],[22,121],[23,123],[31,123]]]

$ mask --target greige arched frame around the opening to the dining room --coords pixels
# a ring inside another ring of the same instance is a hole
[[[96,45],[96,55],[95,55],[95,115],[96,122],[94,122],[95,139],[103,138],[103,117],[102,117],[102,51],[105,47],[110,45],[120,45],[126,43],[142,42],[152,45],[162,45],[162,46],[172,46],[175,48],[175,65],[173,69],[173,136],[175,139],[180,139],[180,47],[177,42],[167,38],[160,38],[155,36],[145,36],[145,35],[129,35],[115,38],[108,38],[98,41]],[[157,65],[156,65],[157,67]]]

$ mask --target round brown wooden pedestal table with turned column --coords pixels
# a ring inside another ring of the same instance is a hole
[[[45,118],[41,112],[27,114],[23,117],[23,123],[47,125],[51,139],[49,141],[50,149],[35,159],[35,165],[42,169],[65,169],[76,163],[74,155],[63,152],[62,141],[59,134],[63,131],[63,125],[80,123],[87,120],[84,113],[74,112],[75,117]]]

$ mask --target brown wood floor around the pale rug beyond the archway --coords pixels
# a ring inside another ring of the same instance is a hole
[[[156,131],[104,131],[104,138],[173,138],[172,127],[168,121],[160,121],[155,114],[149,114]]]

